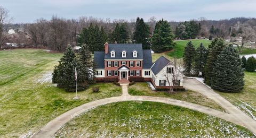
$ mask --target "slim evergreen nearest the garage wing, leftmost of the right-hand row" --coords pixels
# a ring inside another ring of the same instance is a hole
[[[195,57],[195,47],[191,41],[188,42],[187,46],[184,49],[183,63],[185,66],[185,74],[190,75],[190,72],[193,68],[193,61]]]

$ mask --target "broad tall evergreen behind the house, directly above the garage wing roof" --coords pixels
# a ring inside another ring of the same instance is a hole
[[[156,23],[152,37],[152,49],[155,53],[171,50],[175,46],[170,24],[163,19]]]

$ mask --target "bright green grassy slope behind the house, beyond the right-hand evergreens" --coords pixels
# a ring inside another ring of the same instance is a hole
[[[211,44],[211,40],[205,40],[205,39],[198,39],[198,40],[178,40],[175,41],[176,42],[176,46],[174,47],[174,49],[172,51],[170,51],[167,55],[171,56],[171,57],[177,57],[177,58],[182,58],[183,57],[183,53],[184,53],[184,48],[187,45],[187,43],[189,41],[192,41],[193,45],[195,47],[198,47],[201,42],[203,43],[203,45],[205,47],[208,47],[209,44]]]

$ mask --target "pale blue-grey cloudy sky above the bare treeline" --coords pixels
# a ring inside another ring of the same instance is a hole
[[[93,16],[127,21],[138,16],[146,21],[151,16],[167,21],[256,17],[255,0],[0,0],[0,6],[10,11],[13,23],[34,22],[39,18],[50,20],[52,15],[65,19]]]

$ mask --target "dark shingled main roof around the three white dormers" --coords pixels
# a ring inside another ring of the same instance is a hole
[[[110,57],[110,51],[115,50],[115,57]],[[126,57],[122,57],[122,51],[126,51]],[[132,51],[137,51],[137,57],[132,56]],[[108,54],[105,59],[143,59],[142,44],[108,44]]]

